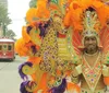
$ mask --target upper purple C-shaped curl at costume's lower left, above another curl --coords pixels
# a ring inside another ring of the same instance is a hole
[[[21,78],[22,78],[23,80],[24,80],[24,79],[28,79],[27,75],[24,74],[23,71],[22,71],[22,68],[23,68],[23,66],[25,66],[25,65],[27,65],[27,66],[29,66],[29,67],[33,66],[33,63],[29,62],[29,61],[26,61],[26,62],[24,62],[24,63],[22,63],[22,65],[19,66],[19,73],[20,73],[20,75],[21,75]]]

